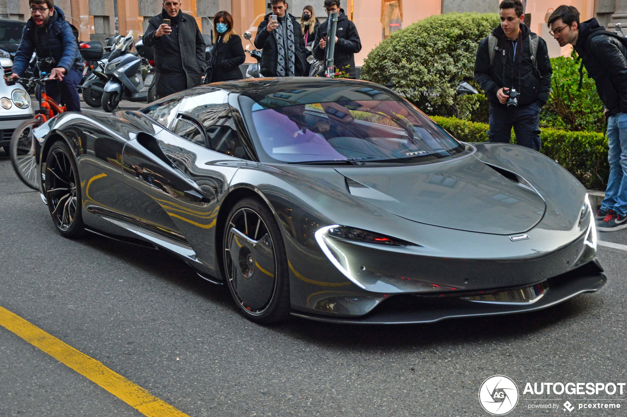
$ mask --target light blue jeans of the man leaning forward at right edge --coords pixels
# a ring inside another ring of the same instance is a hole
[[[608,119],[609,179],[604,210],[614,209],[621,216],[627,211],[627,113],[618,113]]]

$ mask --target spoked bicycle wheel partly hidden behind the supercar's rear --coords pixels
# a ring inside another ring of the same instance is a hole
[[[41,119],[26,120],[14,130],[9,143],[9,156],[11,156],[13,169],[19,179],[32,189],[39,189],[33,135],[33,129],[39,125],[41,125]]]

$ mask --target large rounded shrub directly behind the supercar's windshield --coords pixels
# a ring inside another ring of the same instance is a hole
[[[496,13],[446,13],[422,19],[381,41],[364,61],[363,80],[387,85],[427,113],[455,114],[455,92],[473,77],[479,42]]]

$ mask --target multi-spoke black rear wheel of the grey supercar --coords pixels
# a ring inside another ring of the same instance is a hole
[[[56,230],[66,238],[82,236],[85,224],[78,168],[73,152],[61,140],[48,152],[44,193]]]

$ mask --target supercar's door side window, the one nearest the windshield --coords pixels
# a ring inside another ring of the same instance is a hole
[[[246,158],[228,103],[200,105],[190,113],[203,124],[209,149],[237,158]]]

